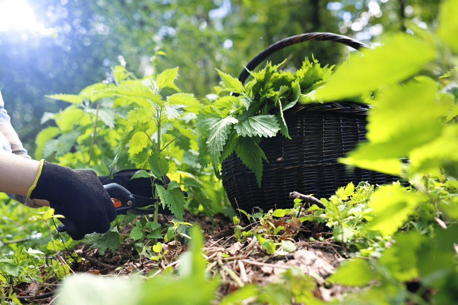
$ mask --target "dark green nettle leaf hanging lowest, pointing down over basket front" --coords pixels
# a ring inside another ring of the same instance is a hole
[[[254,172],[256,181],[259,187],[261,187],[262,161],[267,161],[267,157],[257,144],[255,138],[239,137],[235,147],[235,153]]]

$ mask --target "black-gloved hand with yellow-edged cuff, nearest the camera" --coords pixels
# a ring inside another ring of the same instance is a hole
[[[65,216],[60,220],[74,240],[106,232],[117,216],[110,196],[90,169],[73,170],[42,160],[27,197],[49,201],[56,214]]]

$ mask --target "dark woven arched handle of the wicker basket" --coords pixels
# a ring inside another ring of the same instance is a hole
[[[253,58],[247,64],[247,68],[243,69],[242,72],[240,73],[239,81],[244,83],[247,80],[248,76],[250,75],[248,71],[254,70],[254,68],[256,68],[258,64],[266,60],[269,56],[271,56],[276,51],[281,50],[287,46],[299,43],[299,42],[310,41],[310,40],[337,41],[337,42],[346,44],[348,46],[351,46],[352,48],[356,50],[358,50],[361,47],[369,49],[369,47],[365,45],[364,43],[361,43],[350,37],[343,36],[343,35],[338,35],[338,34],[333,34],[333,33],[320,33],[320,32],[299,34],[299,35],[295,35],[295,36],[291,36],[291,37],[282,39],[281,41],[277,41],[274,44],[271,44],[270,46],[268,46],[264,51],[256,55],[256,57]]]

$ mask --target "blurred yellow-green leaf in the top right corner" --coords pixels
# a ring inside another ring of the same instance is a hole
[[[442,1],[437,20],[439,21],[437,35],[458,52],[458,0]]]

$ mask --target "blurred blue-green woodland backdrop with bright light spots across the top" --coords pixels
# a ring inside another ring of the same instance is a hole
[[[328,31],[363,42],[402,28],[402,20],[434,26],[438,1],[407,0],[36,0],[37,22],[53,34],[0,31],[0,90],[21,139],[33,153],[43,112],[64,103],[45,98],[80,92],[112,77],[124,57],[142,77],[180,67],[179,88],[198,99],[210,93],[218,68],[237,76],[271,43],[299,33]],[[305,51],[304,51],[305,50]],[[306,42],[279,52],[272,61],[320,55],[338,62],[343,47]]]

